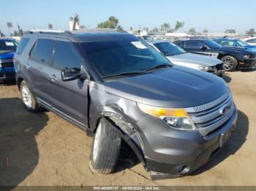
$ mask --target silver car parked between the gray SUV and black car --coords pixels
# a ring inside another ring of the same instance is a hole
[[[147,42],[159,52],[162,52],[166,58],[174,64],[208,71],[212,74],[217,74],[218,76],[222,76],[223,74],[223,62],[217,58],[186,52],[181,49],[181,47],[168,41],[157,40]]]

